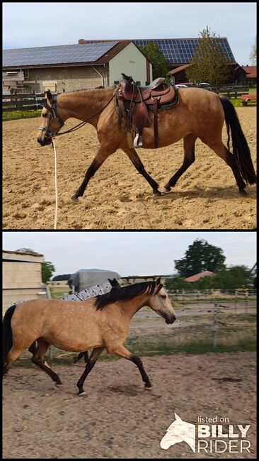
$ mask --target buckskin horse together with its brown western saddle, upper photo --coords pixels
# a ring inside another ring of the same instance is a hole
[[[86,170],[81,186],[71,197],[73,201],[78,201],[84,195],[91,177],[117,149],[125,152],[137,171],[149,182],[153,193],[161,195],[159,184],[146,172],[135,147],[153,149],[155,145],[163,148],[182,138],[183,165],[165,184],[163,192],[170,191],[195,161],[195,141],[200,138],[229,165],[240,194],[246,195],[246,185],[254,184],[256,175],[248,143],[229,99],[201,88],[177,90],[165,84],[164,79],[156,79],[148,87],[137,87],[130,80],[131,77],[122,76],[119,87],[115,89],[79,90],[57,96],[53,96],[49,90],[45,91],[41,126],[38,129],[40,145],[49,145],[53,137],[69,133],[85,123],[91,123],[96,128],[100,141],[98,152]],[[171,97],[169,101],[168,96]],[[64,122],[71,117],[82,122],[59,133]],[[222,143],[224,121],[228,135],[227,147]],[[134,131],[133,137],[131,131]],[[233,153],[230,151],[230,138]]]

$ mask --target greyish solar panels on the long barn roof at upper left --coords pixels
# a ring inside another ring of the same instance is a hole
[[[94,62],[117,42],[4,50],[3,67]]]

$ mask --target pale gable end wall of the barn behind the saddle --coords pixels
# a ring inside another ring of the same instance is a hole
[[[150,81],[152,80],[152,66],[149,64]],[[135,82],[145,85],[147,81],[146,57],[142,55],[134,43],[129,43],[109,62],[109,85],[113,86],[122,78],[122,72],[131,75]]]

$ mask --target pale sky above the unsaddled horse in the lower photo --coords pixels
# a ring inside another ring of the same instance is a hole
[[[86,232],[3,232],[3,249],[30,248],[54,264],[58,274],[80,269],[112,270],[128,275],[175,273],[174,260],[182,259],[194,240],[207,240],[224,251],[225,264],[256,262],[255,232],[177,231],[86,231]]]

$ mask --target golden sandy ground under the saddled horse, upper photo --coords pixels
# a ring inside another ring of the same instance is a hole
[[[256,108],[238,108],[255,165]],[[78,121],[70,119],[66,128]],[[54,150],[36,142],[39,118],[4,122],[4,228],[54,228]],[[224,142],[226,133],[224,131]],[[234,176],[212,150],[196,143],[196,161],[169,194],[151,187],[117,150],[91,179],[78,204],[81,184],[98,148],[86,125],[56,140],[59,229],[254,229],[256,187],[238,194]],[[147,172],[163,187],[183,161],[183,141],[159,150],[139,150]]]

